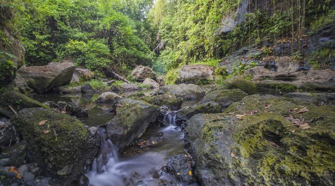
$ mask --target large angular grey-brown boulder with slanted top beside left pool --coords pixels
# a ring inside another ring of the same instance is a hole
[[[22,66],[17,73],[36,93],[48,92],[68,84],[74,73],[73,63],[49,63],[46,66]]]

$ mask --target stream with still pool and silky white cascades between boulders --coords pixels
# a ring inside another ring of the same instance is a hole
[[[39,96],[38,101],[72,102],[88,110],[89,116],[79,118],[88,126],[99,126],[112,119],[114,113],[109,112],[111,105],[96,104],[80,96]],[[192,103],[189,103],[192,104]],[[139,148],[130,145],[119,155],[112,142],[107,139],[105,128],[98,128],[101,138],[101,149],[87,173],[89,186],[185,186],[169,173],[166,173],[166,160],[184,152],[184,134],[175,125],[176,112],[167,112],[163,118],[166,127],[154,126],[147,129],[141,139],[163,137],[164,140],[154,145]],[[197,184],[187,186],[198,186]]]

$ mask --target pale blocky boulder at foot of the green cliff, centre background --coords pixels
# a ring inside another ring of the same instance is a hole
[[[206,65],[183,65],[177,76],[177,84],[199,84],[203,81],[213,80],[214,71]]]

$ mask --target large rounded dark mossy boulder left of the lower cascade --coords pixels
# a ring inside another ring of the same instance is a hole
[[[28,142],[33,160],[64,185],[78,179],[97,153],[97,140],[82,122],[52,109],[22,109],[12,123]]]

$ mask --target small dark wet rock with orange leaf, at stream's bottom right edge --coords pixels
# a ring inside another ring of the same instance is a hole
[[[194,176],[194,162],[188,155],[178,154],[167,159],[166,170],[183,184],[197,181]]]

